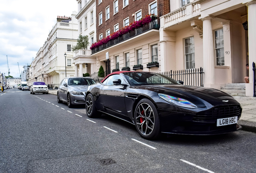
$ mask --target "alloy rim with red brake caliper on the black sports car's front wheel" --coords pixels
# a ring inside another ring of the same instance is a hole
[[[151,106],[147,103],[140,103],[135,112],[135,123],[138,131],[149,136],[155,127],[155,115]]]

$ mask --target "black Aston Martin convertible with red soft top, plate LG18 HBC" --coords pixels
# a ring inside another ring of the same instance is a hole
[[[90,85],[88,117],[112,115],[135,125],[145,139],[160,133],[216,135],[242,129],[242,107],[217,89],[183,85],[153,72],[120,71]]]

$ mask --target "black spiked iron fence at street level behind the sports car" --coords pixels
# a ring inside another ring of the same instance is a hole
[[[193,86],[204,86],[203,79],[203,68],[194,68],[194,69],[186,69],[186,70],[171,70],[169,72],[159,72],[165,76],[169,76],[175,80],[181,80],[185,85],[193,85]]]

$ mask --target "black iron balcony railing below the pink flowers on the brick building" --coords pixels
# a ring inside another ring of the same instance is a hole
[[[160,28],[160,18],[159,17],[152,17],[152,21],[150,23],[145,24],[140,28],[136,28],[136,29],[124,34],[124,35],[118,36],[114,40],[109,40],[107,43],[102,44],[101,46],[92,49],[91,53],[94,54],[94,53],[99,52],[99,51],[101,51],[105,48],[108,48],[110,46],[118,44],[118,43],[120,43],[124,40],[128,40],[128,39],[130,39],[134,36],[142,34],[143,32],[147,32],[148,30],[151,30],[151,29],[159,30],[159,28]]]

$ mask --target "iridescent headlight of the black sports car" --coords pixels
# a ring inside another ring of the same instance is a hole
[[[165,101],[176,105],[176,106],[180,106],[180,107],[186,107],[186,108],[197,108],[196,105],[194,105],[193,103],[185,100],[185,99],[181,99],[178,97],[172,97],[169,95],[164,95],[164,94],[158,94],[159,97],[161,97],[162,99],[164,99]]]

